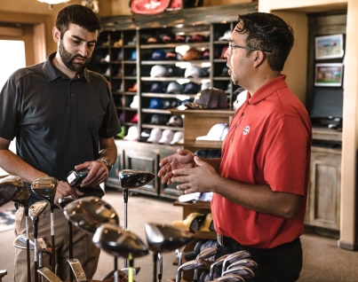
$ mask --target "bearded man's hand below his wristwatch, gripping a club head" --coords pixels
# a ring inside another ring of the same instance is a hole
[[[108,168],[103,161],[85,161],[75,167],[77,170],[87,168],[90,170],[84,178],[81,187],[96,186],[105,182],[108,178]]]

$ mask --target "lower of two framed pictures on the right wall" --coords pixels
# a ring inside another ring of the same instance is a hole
[[[343,64],[315,64],[314,86],[342,86]]]

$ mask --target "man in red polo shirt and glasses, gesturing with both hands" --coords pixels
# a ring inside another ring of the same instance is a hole
[[[228,73],[248,90],[219,159],[187,150],[160,162],[162,182],[185,193],[214,192],[220,255],[248,250],[251,281],[296,281],[302,268],[312,129],[305,106],[281,74],[293,30],[273,14],[240,15],[225,52]],[[249,280],[246,280],[249,281]]]

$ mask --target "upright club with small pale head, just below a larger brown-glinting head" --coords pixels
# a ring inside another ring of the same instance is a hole
[[[38,222],[44,218],[44,215],[46,215],[50,210],[49,202],[47,200],[39,200],[35,204],[33,204],[28,211],[28,215],[32,219],[32,223],[34,225],[34,262],[35,262],[35,282],[38,281],[38,254],[37,254],[37,238],[38,238],[38,231],[37,231],[37,225]]]

